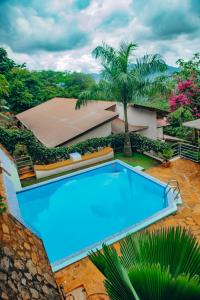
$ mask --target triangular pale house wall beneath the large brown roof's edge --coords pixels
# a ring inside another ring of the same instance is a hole
[[[89,132],[81,135],[80,137],[77,137],[73,139],[71,142],[68,142],[64,145],[70,146],[75,145],[77,143],[80,143],[82,141],[94,138],[94,137],[105,137],[111,134],[111,122],[107,122],[95,129],[90,130]]]

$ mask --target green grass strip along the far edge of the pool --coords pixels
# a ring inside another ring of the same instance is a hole
[[[159,162],[156,161],[155,159],[153,159],[149,156],[146,156],[144,154],[140,154],[140,153],[134,153],[132,155],[132,157],[124,157],[123,153],[116,153],[114,155],[114,159],[121,159],[123,162],[125,162],[125,163],[127,163],[127,164],[129,164],[133,167],[141,166],[144,169],[148,169],[148,168],[159,165]],[[110,161],[110,160],[107,160],[107,161]],[[104,162],[107,162],[107,161],[104,161]],[[56,174],[56,175],[51,175],[51,176],[44,177],[44,178],[41,178],[41,179],[36,179],[36,178],[25,179],[25,180],[22,181],[22,187],[26,187],[26,186],[29,186],[29,185],[32,185],[32,184],[40,183],[40,182],[43,182],[43,181],[46,181],[46,180],[49,180],[49,179],[53,179],[53,178],[56,178],[56,177],[59,177],[59,176],[67,175],[67,174],[73,173],[75,171],[83,170],[83,169],[86,169],[88,167],[92,167],[92,166],[96,166],[96,165],[99,165],[99,163],[93,164],[93,165],[90,165],[90,166],[85,166],[85,167],[82,167],[82,168],[79,168],[79,169],[76,169],[76,170],[66,171],[66,172],[63,172],[63,173]]]

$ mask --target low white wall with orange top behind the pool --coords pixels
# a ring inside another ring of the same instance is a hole
[[[60,161],[48,165],[35,165],[34,170],[37,179],[39,179],[39,178],[59,174],[65,171],[78,169],[84,166],[89,166],[101,161],[111,159],[113,158],[113,156],[114,156],[113,149],[110,147],[106,147],[99,151],[95,151],[93,153],[84,154],[82,155],[82,159],[78,161],[67,159],[64,161]]]

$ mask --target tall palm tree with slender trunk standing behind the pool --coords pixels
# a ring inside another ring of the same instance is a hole
[[[102,94],[121,102],[124,108],[125,143],[124,154],[132,155],[129,136],[127,108],[130,102],[138,97],[153,95],[164,90],[161,80],[151,76],[166,70],[166,64],[160,55],[145,55],[133,63],[133,53],[137,45],[122,42],[119,50],[103,43],[97,46],[92,54],[99,59],[103,67],[103,82],[95,92],[86,91],[77,100],[76,108],[86,104],[89,99],[97,99]],[[96,94],[96,95],[95,95]]]

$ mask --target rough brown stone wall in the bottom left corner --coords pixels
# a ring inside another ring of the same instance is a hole
[[[0,299],[61,299],[42,241],[8,212],[0,214]]]

